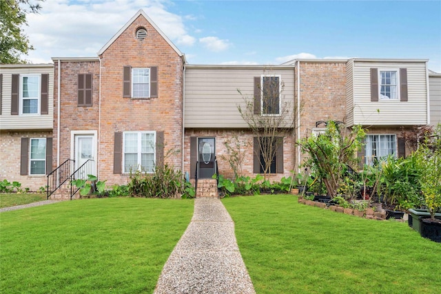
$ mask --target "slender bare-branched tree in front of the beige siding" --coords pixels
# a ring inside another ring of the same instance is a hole
[[[237,108],[258,144],[254,155],[259,158],[265,180],[268,174],[275,172],[276,153],[283,145],[283,137],[296,127],[297,107],[294,100],[291,103],[284,99],[284,87],[280,76],[264,74],[254,78],[254,96],[244,95],[238,89],[244,105]]]

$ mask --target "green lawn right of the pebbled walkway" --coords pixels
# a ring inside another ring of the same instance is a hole
[[[224,198],[257,293],[440,293],[441,244],[295,196]]]

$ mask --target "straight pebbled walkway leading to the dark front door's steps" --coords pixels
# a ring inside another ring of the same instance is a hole
[[[195,200],[192,222],[165,263],[154,293],[256,293],[234,222],[220,200]]]

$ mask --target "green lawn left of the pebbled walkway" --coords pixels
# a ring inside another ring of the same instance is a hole
[[[0,293],[152,293],[192,200],[75,200],[0,214]]]

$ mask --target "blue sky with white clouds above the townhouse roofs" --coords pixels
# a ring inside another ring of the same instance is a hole
[[[139,9],[191,64],[280,64],[292,59],[429,59],[441,72],[441,0],[45,0],[24,27],[24,58],[96,53]]]

